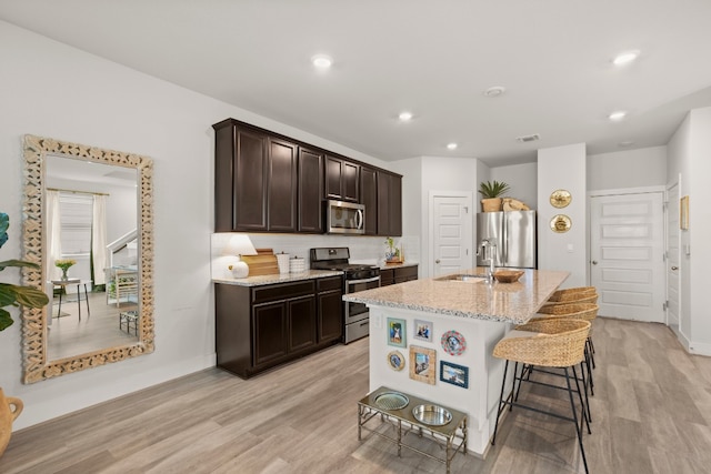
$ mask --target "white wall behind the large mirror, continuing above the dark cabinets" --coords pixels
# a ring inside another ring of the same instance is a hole
[[[0,333],[0,386],[24,402],[16,430],[214,365],[212,123],[233,117],[382,165],[372,157],[1,21],[0,63],[0,208],[11,220],[2,260],[21,256],[23,134],[154,161],[156,352],[22,385],[21,324],[13,312],[16,324]],[[19,283],[19,273],[6,270],[2,281]]]

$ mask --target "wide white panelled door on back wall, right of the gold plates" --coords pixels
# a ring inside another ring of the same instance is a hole
[[[599,314],[663,322],[663,192],[592,196],[590,231]]]

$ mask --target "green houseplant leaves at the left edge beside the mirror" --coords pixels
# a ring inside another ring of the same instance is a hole
[[[8,228],[10,226],[10,218],[4,212],[0,212],[0,248],[8,241]],[[24,262],[22,260],[6,260],[0,262],[0,271],[8,266],[28,266],[39,269],[37,263]],[[6,306],[28,306],[42,307],[49,303],[47,294],[40,290],[30,286],[13,285],[0,282],[0,331],[11,326],[14,321]]]

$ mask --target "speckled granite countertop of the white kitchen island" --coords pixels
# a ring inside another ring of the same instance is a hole
[[[484,273],[472,269],[467,274]],[[525,270],[515,283],[414,280],[343,296],[369,305],[424,311],[458,317],[527,322],[570,273]]]

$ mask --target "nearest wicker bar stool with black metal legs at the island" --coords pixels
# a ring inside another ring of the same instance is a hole
[[[551,317],[551,319],[537,319],[531,320],[527,324],[518,326],[515,330],[510,331],[501,341],[497,343],[493,349],[493,356],[498,359],[504,359],[505,365],[503,369],[503,380],[501,382],[501,396],[499,399],[499,409],[497,411],[497,423],[494,425],[493,437],[491,444],[495,444],[497,432],[499,430],[499,420],[501,413],[509,406],[509,410],[513,410],[513,406],[519,406],[525,410],[531,410],[538,413],[544,413],[554,416],[560,420],[573,422],[575,425],[575,433],[578,435],[578,444],[580,446],[580,454],[582,455],[582,462],[588,473],[588,461],[585,458],[585,451],[582,443],[582,422],[588,423],[585,414],[585,402],[583,401],[580,390],[579,379],[575,371],[575,365],[581,363],[584,359],[585,340],[588,332],[590,331],[590,322],[584,320],[575,320],[569,317]],[[513,386],[511,392],[504,397],[504,390],[507,383],[507,374],[509,370],[509,362],[513,361]],[[540,385],[551,386],[554,389],[563,389],[568,391],[570,399],[571,416],[565,416],[560,413],[547,412],[534,406],[528,406],[519,403],[514,400],[514,393],[518,392],[517,381],[519,386],[523,376],[518,374],[519,363],[525,365],[537,365],[544,367],[558,367],[563,371],[565,377],[565,387],[558,385],[551,385],[543,382],[532,382]],[[570,370],[572,370],[572,380],[575,383],[575,390],[571,385]],[[575,401],[573,393],[578,393],[578,397],[581,404],[580,424],[578,422],[578,410],[575,407]],[[588,424],[588,432],[590,432],[590,425]]]

